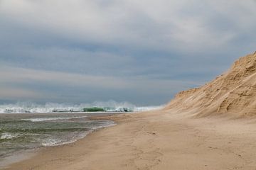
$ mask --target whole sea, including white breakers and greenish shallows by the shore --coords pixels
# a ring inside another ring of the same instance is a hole
[[[0,169],[16,162],[17,155],[75,142],[90,132],[116,125],[111,120],[93,120],[94,116],[150,111],[159,107],[101,105],[85,108],[31,103],[0,105]],[[97,112],[84,112],[88,110]]]

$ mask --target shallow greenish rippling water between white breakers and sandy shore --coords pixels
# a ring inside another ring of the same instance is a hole
[[[102,113],[0,114],[0,166],[5,159],[27,150],[75,142],[111,120],[90,120]],[[106,113],[104,113],[106,115]]]

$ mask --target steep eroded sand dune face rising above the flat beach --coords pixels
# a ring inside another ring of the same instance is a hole
[[[237,60],[225,74],[197,89],[181,91],[166,108],[196,115],[256,115],[256,52]]]

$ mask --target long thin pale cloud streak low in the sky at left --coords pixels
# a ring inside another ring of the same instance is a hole
[[[122,79],[115,79],[114,77],[94,77],[90,75],[70,74],[63,72],[46,72],[33,69],[18,69],[2,67],[0,72],[0,82],[29,82],[41,81],[50,84],[65,84],[69,86],[97,86],[107,89],[125,89],[129,86],[129,82],[122,81]],[[102,84],[104,82],[104,84]]]

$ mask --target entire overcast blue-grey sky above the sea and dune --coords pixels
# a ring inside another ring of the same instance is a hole
[[[167,103],[256,44],[255,0],[0,0],[0,103]]]

